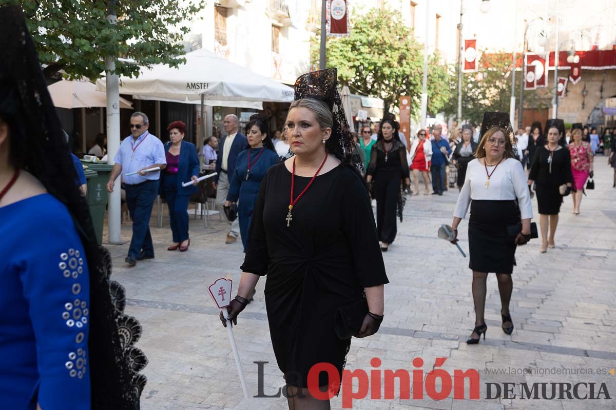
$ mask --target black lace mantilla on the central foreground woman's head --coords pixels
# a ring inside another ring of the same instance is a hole
[[[350,165],[360,175],[363,173],[363,162],[359,155],[354,154],[355,141],[347,122],[342,99],[338,93],[338,69],[327,68],[321,71],[302,74],[295,81],[295,100],[314,98],[325,102],[331,109],[334,127],[331,136],[325,143],[327,150],[336,156],[342,164]],[[291,152],[292,154],[292,152]]]

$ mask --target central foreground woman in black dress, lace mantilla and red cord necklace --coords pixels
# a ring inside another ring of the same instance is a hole
[[[310,395],[307,375],[321,362],[342,373],[351,337],[334,332],[338,309],[367,299],[355,337],[376,333],[383,320],[388,281],[368,191],[355,168],[360,159],[349,155],[354,143],[336,71],[304,74],[295,84],[286,119],[294,156],[271,167],[261,183],[238,296],[227,309],[235,323],[267,275],[265,307],[290,409],[330,408],[329,400]],[[221,320],[226,326],[222,313]],[[318,385],[331,398],[337,382],[323,372]]]

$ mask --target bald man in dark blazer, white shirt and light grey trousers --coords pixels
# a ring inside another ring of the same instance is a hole
[[[214,176],[214,188],[216,188],[216,205],[219,211],[223,212],[227,194],[229,194],[230,175],[233,175],[235,170],[235,162],[238,154],[244,151],[248,146],[246,136],[238,132],[238,118],[233,114],[225,117],[223,128],[227,135],[222,137],[221,143],[218,146],[218,160],[216,161],[216,172]],[[230,231],[227,233],[225,243],[237,242],[237,237],[240,234],[240,222],[238,219],[229,223]]]

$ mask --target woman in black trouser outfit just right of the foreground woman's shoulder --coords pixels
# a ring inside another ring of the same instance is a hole
[[[404,195],[401,183],[404,181],[407,187],[411,184],[407,151],[397,135],[398,123],[393,119],[383,119],[376,144],[372,146],[366,177],[368,184],[373,186],[376,227],[384,252],[394,242],[398,230],[396,215],[402,222]]]

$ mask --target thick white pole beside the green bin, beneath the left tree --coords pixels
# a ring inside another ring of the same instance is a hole
[[[107,21],[115,25],[116,0],[107,1]],[[105,58],[105,89],[107,92],[107,162],[114,165],[116,153],[120,149],[120,82],[115,71],[115,57]],[[122,243],[120,238],[120,178],[116,179],[113,192],[108,199],[109,242]]]

